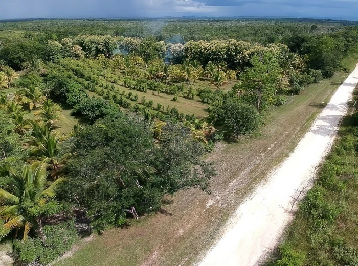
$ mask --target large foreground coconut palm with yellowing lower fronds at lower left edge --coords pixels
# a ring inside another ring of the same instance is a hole
[[[46,168],[43,162],[24,165],[19,173],[12,168],[9,170],[13,178],[9,191],[0,189],[0,219],[4,224],[0,228],[10,232],[13,229],[23,231],[23,240],[28,238],[30,230],[38,226],[43,235],[41,215],[49,206],[49,201],[55,197],[55,189],[63,182],[57,179],[46,188]]]

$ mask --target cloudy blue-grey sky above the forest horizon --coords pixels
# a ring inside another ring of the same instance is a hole
[[[358,20],[358,0],[0,0],[0,20],[285,16]]]

